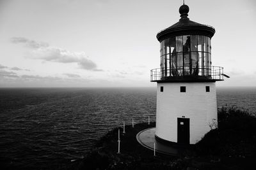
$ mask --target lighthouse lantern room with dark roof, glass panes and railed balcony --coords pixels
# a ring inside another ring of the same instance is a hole
[[[212,66],[211,61],[215,29],[189,20],[186,4],[179,12],[179,22],[157,34],[160,68],[151,70],[151,81],[223,80],[223,67]]]

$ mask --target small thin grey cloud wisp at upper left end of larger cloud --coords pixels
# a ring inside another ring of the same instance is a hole
[[[26,46],[30,47],[30,48],[44,48],[49,46],[48,43],[44,43],[44,42],[36,42],[24,37],[13,37],[11,38],[12,43],[23,43]]]

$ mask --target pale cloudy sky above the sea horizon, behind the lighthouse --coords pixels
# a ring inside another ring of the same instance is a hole
[[[0,87],[154,87],[157,32],[182,0],[0,0]],[[256,86],[256,1],[186,0],[211,25],[218,87]]]

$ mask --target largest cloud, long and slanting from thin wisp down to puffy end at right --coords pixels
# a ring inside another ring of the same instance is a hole
[[[102,71],[97,69],[97,64],[88,59],[84,52],[70,52],[63,48],[49,46],[47,43],[38,43],[27,38],[12,38],[13,43],[24,43],[33,48],[29,54],[32,59],[41,59],[49,62],[77,63],[79,68],[90,71]]]

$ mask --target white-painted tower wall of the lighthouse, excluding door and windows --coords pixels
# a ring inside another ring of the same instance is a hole
[[[163,86],[163,92],[160,87]],[[180,92],[186,86],[186,92]],[[205,86],[210,92],[205,92]],[[189,118],[190,144],[200,141],[211,130],[209,124],[217,122],[215,82],[157,83],[156,135],[177,142],[177,118]]]

